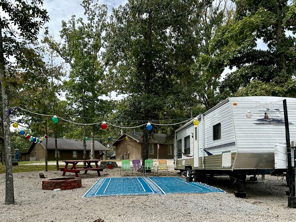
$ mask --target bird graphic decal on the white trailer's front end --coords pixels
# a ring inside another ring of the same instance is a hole
[[[263,115],[264,112],[264,115]],[[266,110],[258,110],[258,112],[254,112],[259,117],[263,117],[257,119],[255,123],[256,125],[285,125],[284,113],[280,109],[266,109]],[[294,125],[289,122],[289,125]]]

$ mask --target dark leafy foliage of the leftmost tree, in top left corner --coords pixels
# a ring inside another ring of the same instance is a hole
[[[1,51],[4,54],[1,62],[4,62],[5,70],[9,73],[7,82],[15,83],[18,69],[25,72],[23,78],[27,81],[32,81],[36,76],[34,71],[42,60],[28,44],[36,44],[40,28],[49,20],[46,10],[40,7],[42,4],[42,0],[30,3],[22,0],[16,0],[15,3],[9,0],[0,2],[1,9],[8,15],[1,18]]]

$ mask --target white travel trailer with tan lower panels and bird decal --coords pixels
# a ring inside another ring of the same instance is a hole
[[[296,98],[232,97],[197,116],[197,126],[191,120],[175,131],[175,170],[186,171],[187,177],[270,174],[275,144],[286,143],[283,99],[290,139],[296,140]]]

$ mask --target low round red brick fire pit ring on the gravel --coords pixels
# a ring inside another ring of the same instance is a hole
[[[70,190],[81,187],[81,178],[55,178],[42,181],[43,190]]]

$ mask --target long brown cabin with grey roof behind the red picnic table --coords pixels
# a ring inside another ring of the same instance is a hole
[[[36,161],[45,161],[45,140],[39,144],[33,142],[26,152],[20,153],[20,161],[28,161],[30,157],[36,157]],[[100,160],[102,151],[109,149],[98,141],[94,141],[95,158]],[[74,139],[57,139],[59,160],[83,160],[83,141]],[[86,141],[86,159],[90,158],[91,141]],[[47,138],[47,160],[56,160],[55,140]]]

